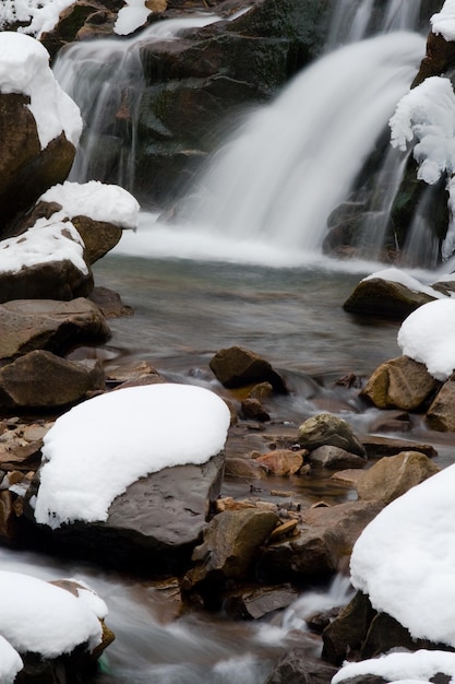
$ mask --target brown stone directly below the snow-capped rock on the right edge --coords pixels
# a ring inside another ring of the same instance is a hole
[[[408,356],[398,356],[381,364],[371,375],[359,396],[379,409],[418,409],[434,392],[440,382],[424,364]]]

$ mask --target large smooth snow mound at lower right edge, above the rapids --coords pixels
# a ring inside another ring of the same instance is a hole
[[[351,582],[414,638],[455,647],[455,465],[392,502],[367,526]],[[454,663],[455,667],[455,663]]]

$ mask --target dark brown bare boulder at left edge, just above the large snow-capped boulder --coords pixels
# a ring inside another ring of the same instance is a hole
[[[70,362],[43,350],[0,369],[0,406],[8,411],[67,406],[104,388],[99,362]]]

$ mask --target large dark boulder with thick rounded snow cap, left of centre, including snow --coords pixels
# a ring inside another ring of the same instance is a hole
[[[79,404],[45,437],[32,534],[109,565],[181,569],[219,494],[229,424],[226,403],[194,386]]]

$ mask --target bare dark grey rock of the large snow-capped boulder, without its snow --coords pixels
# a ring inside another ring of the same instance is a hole
[[[26,505],[20,539],[32,547],[147,577],[181,574],[219,495],[223,470],[220,452],[201,465],[176,465],[141,477],[112,502],[105,522],[76,520],[51,530],[37,524]],[[37,486],[35,482],[35,492]],[[32,488],[27,500],[33,494]]]

